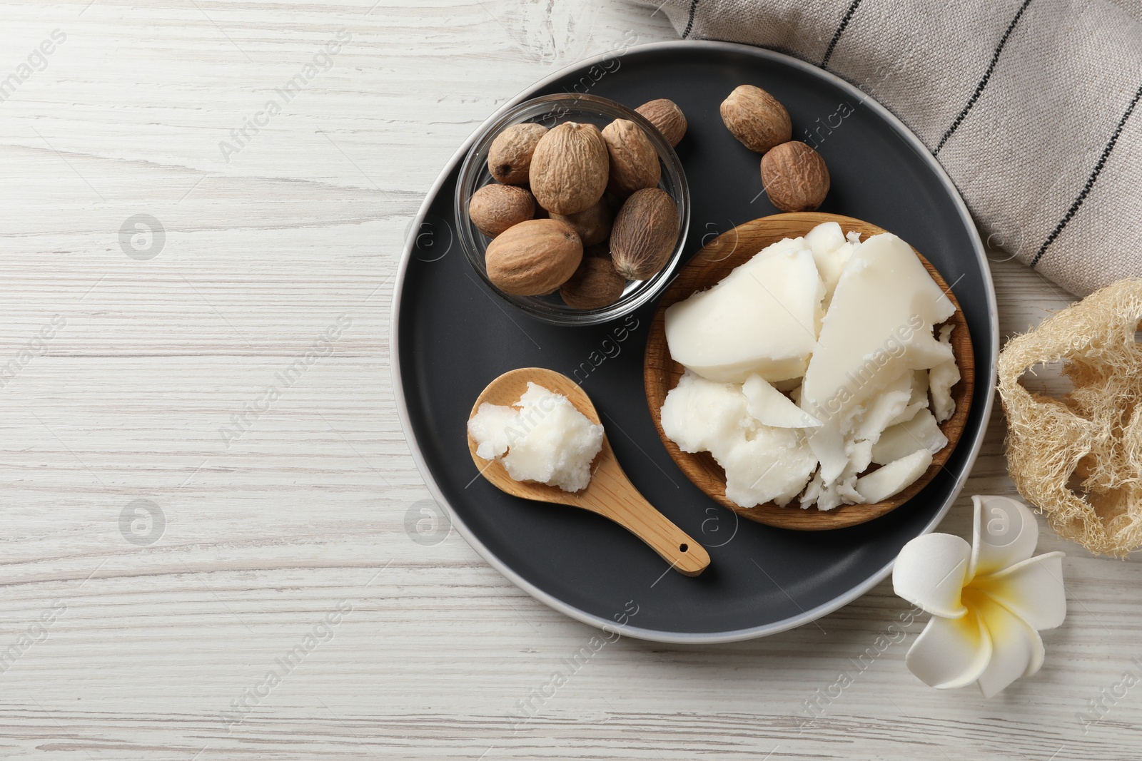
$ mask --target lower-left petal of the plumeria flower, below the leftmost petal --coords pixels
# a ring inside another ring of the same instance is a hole
[[[966,542],[965,542],[966,544]],[[933,616],[904,656],[908,670],[936,689],[971,685],[991,659],[991,638],[974,610],[963,618]]]

